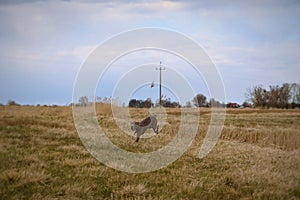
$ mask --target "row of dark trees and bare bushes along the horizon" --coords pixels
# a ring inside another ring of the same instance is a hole
[[[181,105],[179,102],[172,101],[170,98],[162,99],[162,106],[169,108],[184,107],[257,107],[257,108],[300,108],[300,84],[299,83],[283,83],[280,85],[270,85],[269,88],[264,88],[262,85],[249,87],[245,93],[246,101],[239,105],[238,103],[219,102],[218,100],[211,98],[209,101],[203,94],[197,94],[193,99],[186,102],[185,105]],[[95,103],[107,103],[112,104],[112,97],[88,97],[82,96],[78,99],[77,103],[71,103],[70,105],[87,106]],[[157,101],[158,102],[158,101]],[[19,106],[16,101],[9,100],[8,106]],[[130,99],[128,105],[123,103],[123,107],[133,108],[150,108],[158,106],[158,103],[153,103],[150,98],[146,100]],[[3,104],[0,104],[3,106]],[[39,104],[37,106],[40,106]],[[44,105],[46,106],[46,105]]]

